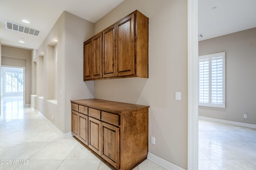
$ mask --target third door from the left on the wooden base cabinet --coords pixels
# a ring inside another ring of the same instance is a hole
[[[101,153],[101,121],[89,117],[88,122],[88,147],[96,152],[98,155]]]

